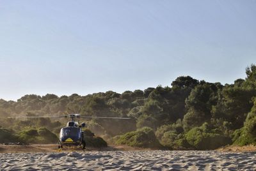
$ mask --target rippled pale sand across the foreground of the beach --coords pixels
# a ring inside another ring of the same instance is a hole
[[[255,152],[78,151],[1,153],[1,170],[255,170]]]

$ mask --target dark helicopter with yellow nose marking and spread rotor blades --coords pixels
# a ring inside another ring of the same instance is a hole
[[[83,149],[85,149],[86,142],[84,131],[82,128],[86,127],[85,123],[79,124],[78,121],[76,121],[79,118],[95,118],[95,119],[131,119],[129,117],[101,117],[101,116],[86,116],[86,115],[80,115],[80,114],[68,114],[68,115],[52,115],[52,116],[13,116],[8,118],[44,118],[44,117],[70,117],[70,121],[68,121],[67,125],[60,130],[60,136],[58,140],[58,149],[62,149],[63,145],[67,146],[82,146]]]

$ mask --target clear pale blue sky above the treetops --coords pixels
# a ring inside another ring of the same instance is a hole
[[[0,0],[0,98],[232,84],[256,63],[256,1]]]

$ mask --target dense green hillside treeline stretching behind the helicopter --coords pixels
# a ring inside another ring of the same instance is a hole
[[[113,91],[61,97],[30,94],[17,101],[0,100],[1,126],[13,131],[44,126],[58,133],[65,120],[15,121],[4,117],[70,113],[131,117],[124,121],[87,121],[90,130],[116,143],[130,142],[136,146],[143,141],[136,133],[142,136],[141,130],[147,130],[144,137],[153,132],[155,137],[152,138],[170,149],[214,149],[232,143],[256,144],[256,66],[252,64],[246,68],[246,78],[239,78],[234,84],[222,85],[182,76],[170,87],[159,85],[122,94]],[[154,144],[157,144],[155,140]]]

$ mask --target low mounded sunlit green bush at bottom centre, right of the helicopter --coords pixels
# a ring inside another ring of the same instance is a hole
[[[159,148],[161,145],[151,128],[143,127],[121,135],[116,144],[125,144],[132,147]]]

